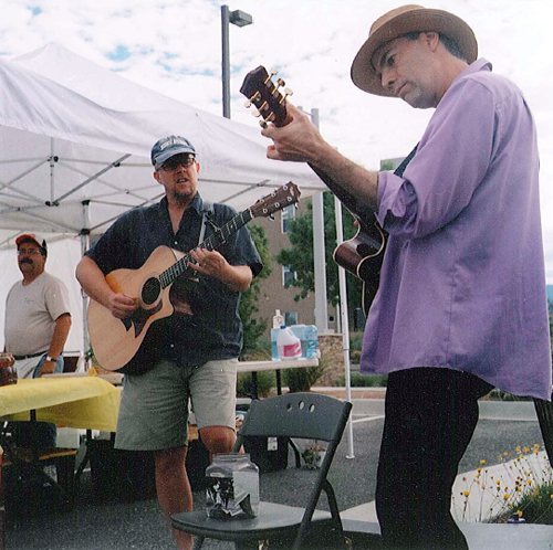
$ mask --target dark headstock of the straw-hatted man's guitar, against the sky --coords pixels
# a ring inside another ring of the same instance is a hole
[[[289,123],[286,97],[292,95],[292,91],[285,89],[284,94],[281,94],[279,88],[285,86],[285,83],[282,78],[279,78],[274,84],[271,80],[274,74],[276,74],[276,71],[269,74],[267,68],[260,65],[246,75],[240,88],[240,93],[248,97],[246,106],[255,105],[258,112],[254,115],[262,117],[259,123],[261,126],[267,126],[267,123],[285,126]]]

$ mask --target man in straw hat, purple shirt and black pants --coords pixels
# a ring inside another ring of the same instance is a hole
[[[449,510],[479,398],[551,399],[534,121],[477,51],[441,10],[404,6],[371,28],[355,85],[436,109],[396,173],[349,161],[292,105],[262,130],[269,158],[307,161],[388,233],[361,370],[389,374],[376,506],[394,549],[468,548]]]

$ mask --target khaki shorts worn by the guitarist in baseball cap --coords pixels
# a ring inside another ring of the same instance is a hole
[[[190,370],[167,360],[126,376],[115,447],[161,451],[188,444],[188,401],[198,429],[236,429],[238,359],[209,361]]]

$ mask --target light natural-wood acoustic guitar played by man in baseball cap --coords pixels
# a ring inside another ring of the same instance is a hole
[[[209,235],[198,248],[217,250],[229,236],[253,218],[269,218],[274,212],[300,199],[300,189],[289,182],[258,200]],[[138,373],[152,367],[155,351],[142,346],[152,324],[173,314],[169,299],[173,283],[191,271],[190,254],[158,246],[138,269],[115,269],[105,277],[116,293],[138,297],[138,308],[127,318],[117,319],[109,309],[91,299],[88,328],[92,349],[98,363],[106,370]],[[213,305],[217,307],[217,305]]]

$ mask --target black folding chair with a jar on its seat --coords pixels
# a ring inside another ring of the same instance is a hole
[[[234,452],[251,437],[295,437],[328,443],[316,482],[305,507],[260,503],[255,518],[219,520],[208,518],[205,510],[175,514],[173,527],[196,535],[195,549],[204,539],[233,541],[237,550],[259,548],[345,548],[336,496],[326,479],[334,454],[344,433],[352,403],[317,393],[290,393],[252,401],[238,434]],[[321,491],[326,494],[331,511],[317,510]]]

